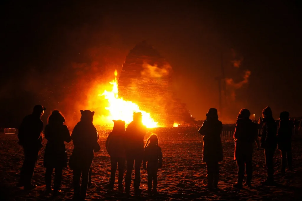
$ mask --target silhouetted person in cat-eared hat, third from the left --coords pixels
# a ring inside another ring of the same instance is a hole
[[[85,199],[89,170],[94,157],[94,152],[100,151],[98,132],[92,124],[94,112],[81,110],[81,121],[72,131],[71,138],[74,144],[69,166],[73,170],[74,198]],[[82,174],[82,183],[80,179]]]

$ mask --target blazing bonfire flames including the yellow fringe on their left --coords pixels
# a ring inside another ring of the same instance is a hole
[[[148,128],[155,128],[158,127],[158,123],[153,120],[153,118],[150,117],[150,114],[140,110],[139,106],[131,101],[125,101],[122,97],[118,97],[118,84],[117,84],[117,71],[114,72],[114,79],[109,82],[110,86],[106,87],[104,92],[101,92],[102,87],[97,87],[94,90],[97,90],[99,98],[101,98],[103,104],[99,102],[101,106],[104,105],[104,107],[100,107],[100,105],[96,106],[98,104],[97,102],[93,102],[93,100],[96,99],[96,97],[91,97],[92,102],[90,102],[90,105],[92,105],[92,108],[95,108],[96,115],[94,116],[93,123],[95,125],[109,125],[113,126],[112,120],[118,120],[121,119],[125,121],[126,125],[129,124],[133,120],[133,112],[141,112],[143,115],[143,124],[146,125]],[[90,95],[94,95],[95,92],[93,92]],[[106,105],[106,106],[105,106]],[[104,110],[105,109],[105,110]],[[101,115],[100,115],[101,114]]]

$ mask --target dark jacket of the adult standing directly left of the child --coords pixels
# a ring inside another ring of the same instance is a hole
[[[125,132],[126,153],[133,156],[143,156],[144,152],[144,137],[147,128],[140,122],[132,121]]]

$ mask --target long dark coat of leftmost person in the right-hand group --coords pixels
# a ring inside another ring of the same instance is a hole
[[[222,161],[223,151],[220,139],[222,123],[218,120],[205,120],[198,132],[203,135],[202,160]]]

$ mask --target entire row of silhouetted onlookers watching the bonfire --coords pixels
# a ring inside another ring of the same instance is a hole
[[[24,190],[32,190],[36,185],[31,183],[39,152],[43,147],[42,131],[44,129],[41,116],[46,109],[41,105],[34,107],[33,113],[26,116],[19,127],[19,144],[24,149],[24,163],[20,172],[18,186],[24,186]],[[60,192],[62,171],[69,165],[73,171],[73,192],[74,199],[84,200],[87,188],[92,185],[91,173],[94,153],[100,151],[98,144],[98,132],[93,125],[94,112],[81,110],[81,119],[74,127],[72,134],[64,125],[65,118],[55,110],[48,117],[48,124],[44,133],[47,139],[43,165],[45,171],[46,190],[56,195]],[[267,179],[262,184],[274,184],[274,163],[273,156],[275,149],[281,152],[281,172],[285,173],[286,166],[292,170],[291,157],[291,135],[293,122],[289,119],[288,112],[281,112],[280,120],[274,120],[270,107],[262,111],[263,119],[253,122],[248,109],[241,109],[237,117],[236,128],[233,135],[235,139],[234,160],[238,168],[238,181],[233,185],[235,188],[243,186],[251,187],[252,180],[252,155],[253,143],[264,149],[265,164],[267,168]],[[118,168],[118,190],[127,194],[130,193],[132,182],[132,170],[134,167],[134,193],[140,195],[140,170],[147,170],[148,193],[157,193],[157,171],[162,167],[162,150],[158,146],[157,135],[149,137],[144,146],[144,136],[146,126],[142,123],[142,114],[133,113],[133,121],[125,129],[125,122],[113,120],[114,127],[106,140],[106,150],[110,155],[111,176],[106,188],[114,188],[115,173]],[[259,125],[262,132],[259,136]],[[210,108],[206,114],[206,120],[199,129],[203,135],[202,160],[207,166],[208,189],[217,189],[219,181],[219,165],[223,160],[223,148],[220,134],[222,132],[222,122],[218,120],[217,109]],[[258,140],[260,138],[260,141]],[[65,143],[72,140],[74,149],[68,160]],[[258,143],[259,142],[259,143]],[[68,163],[69,161],[69,163]],[[68,163],[68,164],[67,164]],[[127,164],[125,176],[125,188],[123,186],[124,168]],[[52,184],[52,173],[55,171],[55,178]],[[244,174],[246,181],[243,183]],[[81,181],[82,176],[82,181]]]

